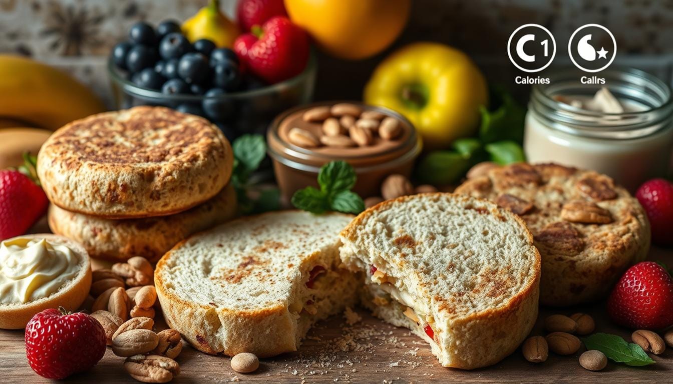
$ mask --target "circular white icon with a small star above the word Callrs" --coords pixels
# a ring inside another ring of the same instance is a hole
[[[593,30],[592,28],[598,28],[599,30]],[[584,32],[582,32],[584,30]],[[608,50],[604,46],[600,47],[600,50],[596,50],[596,46],[592,44],[592,38],[595,38],[596,32],[600,34],[600,30],[604,31],[610,39],[612,40],[612,47],[608,47]],[[575,36],[581,36],[577,42],[575,42]],[[587,64],[580,64],[577,61],[577,58],[573,54],[573,48],[576,48],[577,55],[579,59],[582,59]],[[600,72],[612,64],[614,57],[616,56],[617,42],[614,40],[614,35],[608,28],[600,24],[585,24],[575,30],[568,40],[568,54],[570,60],[573,62],[575,67],[581,69],[585,72]],[[608,54],[610,55],[608,59]],[[595,65],[590,65],[594,64]],[[603,64],[605,63],[605,64]],[[600,65],[600,67],[598,67]],[[591,68],[590,68],[591,67]]]

